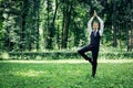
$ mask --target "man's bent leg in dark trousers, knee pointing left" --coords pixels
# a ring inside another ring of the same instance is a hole
[[[85,55],[85,52],[89,52],[89,51],[92,51],[92,46],[90,45],[79,50],[78,53],[92,64],[92,59]]]

